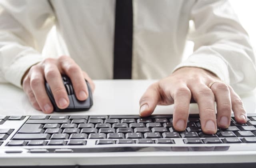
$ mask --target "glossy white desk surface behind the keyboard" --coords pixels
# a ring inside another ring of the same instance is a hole
[[[154,80],[95,80],[94,105],[84,112],[54,112],[53,114],[109,115],[138,114],[139,100]],[[23,90],[11,84],[0,84],[0,115],[44,115],[35,110]],[[256,92],[241,96],[247,113],[256,112]],[[157,106],[154,114],[172,114],[173,105]],[[197,104],[190,104],[190,114],[198,113]]]

